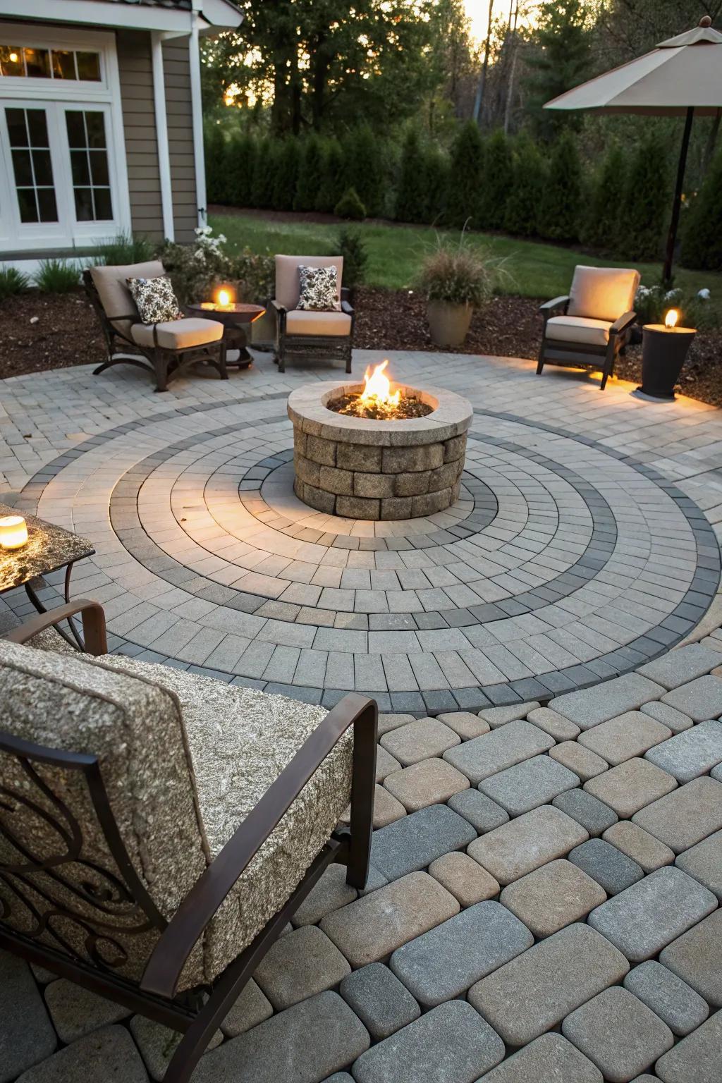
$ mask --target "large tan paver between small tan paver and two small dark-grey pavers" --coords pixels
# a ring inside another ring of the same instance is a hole
[[[572,817],[552,805],[542,805],[482,835],[467,852],[500,884],[511,884],[547,861],[564,857],[588,838]]]

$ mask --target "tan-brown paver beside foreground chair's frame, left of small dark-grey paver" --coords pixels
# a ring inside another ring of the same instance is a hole
[[[351,973],[345,958],[315,925],[280,937],[263,956],[253,977],[277,1012],[332,989]]]

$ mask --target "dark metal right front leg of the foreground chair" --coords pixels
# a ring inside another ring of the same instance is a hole
[[[354,760],[351,783],[351,845],[346,884],[363,888],[368,879],[373,831],[376,755],[379,708],[371,700],[354,722]]]

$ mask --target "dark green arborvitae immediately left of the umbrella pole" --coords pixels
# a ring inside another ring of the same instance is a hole
[[[627,173],[618,248],[633,260],[661,255],[670,205],[667,146],[656,135],[639,143]]]

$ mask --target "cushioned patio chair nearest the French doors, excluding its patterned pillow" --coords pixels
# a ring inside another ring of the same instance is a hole
[[[222,380],[227,380],[223,324],[201,318],[141,322],[126,279],[158,278],[163,274],[160,260],[83,271],[86,292],[101,321],[108,351],[108,360],[93,370],[93,376],[113,365],[136,365],[153,373],[156,391],[166,391],[169,382],[189,365],[207,362],[218,369]]]

